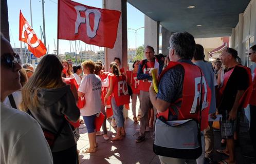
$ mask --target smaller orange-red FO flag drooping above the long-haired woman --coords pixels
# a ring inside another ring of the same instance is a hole
[[[36,36],[32,27],[28,24],[20,10],[20,35],[19,40],[28,44],[28,49],[36,57],[46,54],[46,47],[42,41]]]

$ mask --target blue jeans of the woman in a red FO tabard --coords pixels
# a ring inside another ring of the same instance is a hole
[[[123,127],[124,125],[124,118],[123,118],[123,105],[117,106],[116,100],[114,97],[111,98],[111,105],[113,109],[113,114],[115,116],[117,127]]]

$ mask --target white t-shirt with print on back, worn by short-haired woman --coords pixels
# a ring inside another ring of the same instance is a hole
[[[101,79],[96,74],[83,77],[79,92],[84,93],[85,106],[80,109],[81,115],[91,116],[100,112],[101,108]]]

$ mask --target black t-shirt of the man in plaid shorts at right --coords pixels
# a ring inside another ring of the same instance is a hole
[[[230,71],[232,68],[224,70],[224,72]],[[232,109],[235,96],[237,91],[246,90],[249,87],[249,77],[246,70],[242,67],[235,67],[232,74],[228,79],[228,83],[224,90],[222,101],[220,106],[218,107],[219,113],[223,113],[223,111],[227,110],[228,112]]]

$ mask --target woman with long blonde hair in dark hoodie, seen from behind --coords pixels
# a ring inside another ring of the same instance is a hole
[[[56,55],[45,55],[23,87],[20,107],[39,122],[45,134],[54,136],[53,142],[48,140],[53,163],[78,163],[74,134],[64,116],[76,122],[80,111],[70,86],[62,81],[62,70]]]

